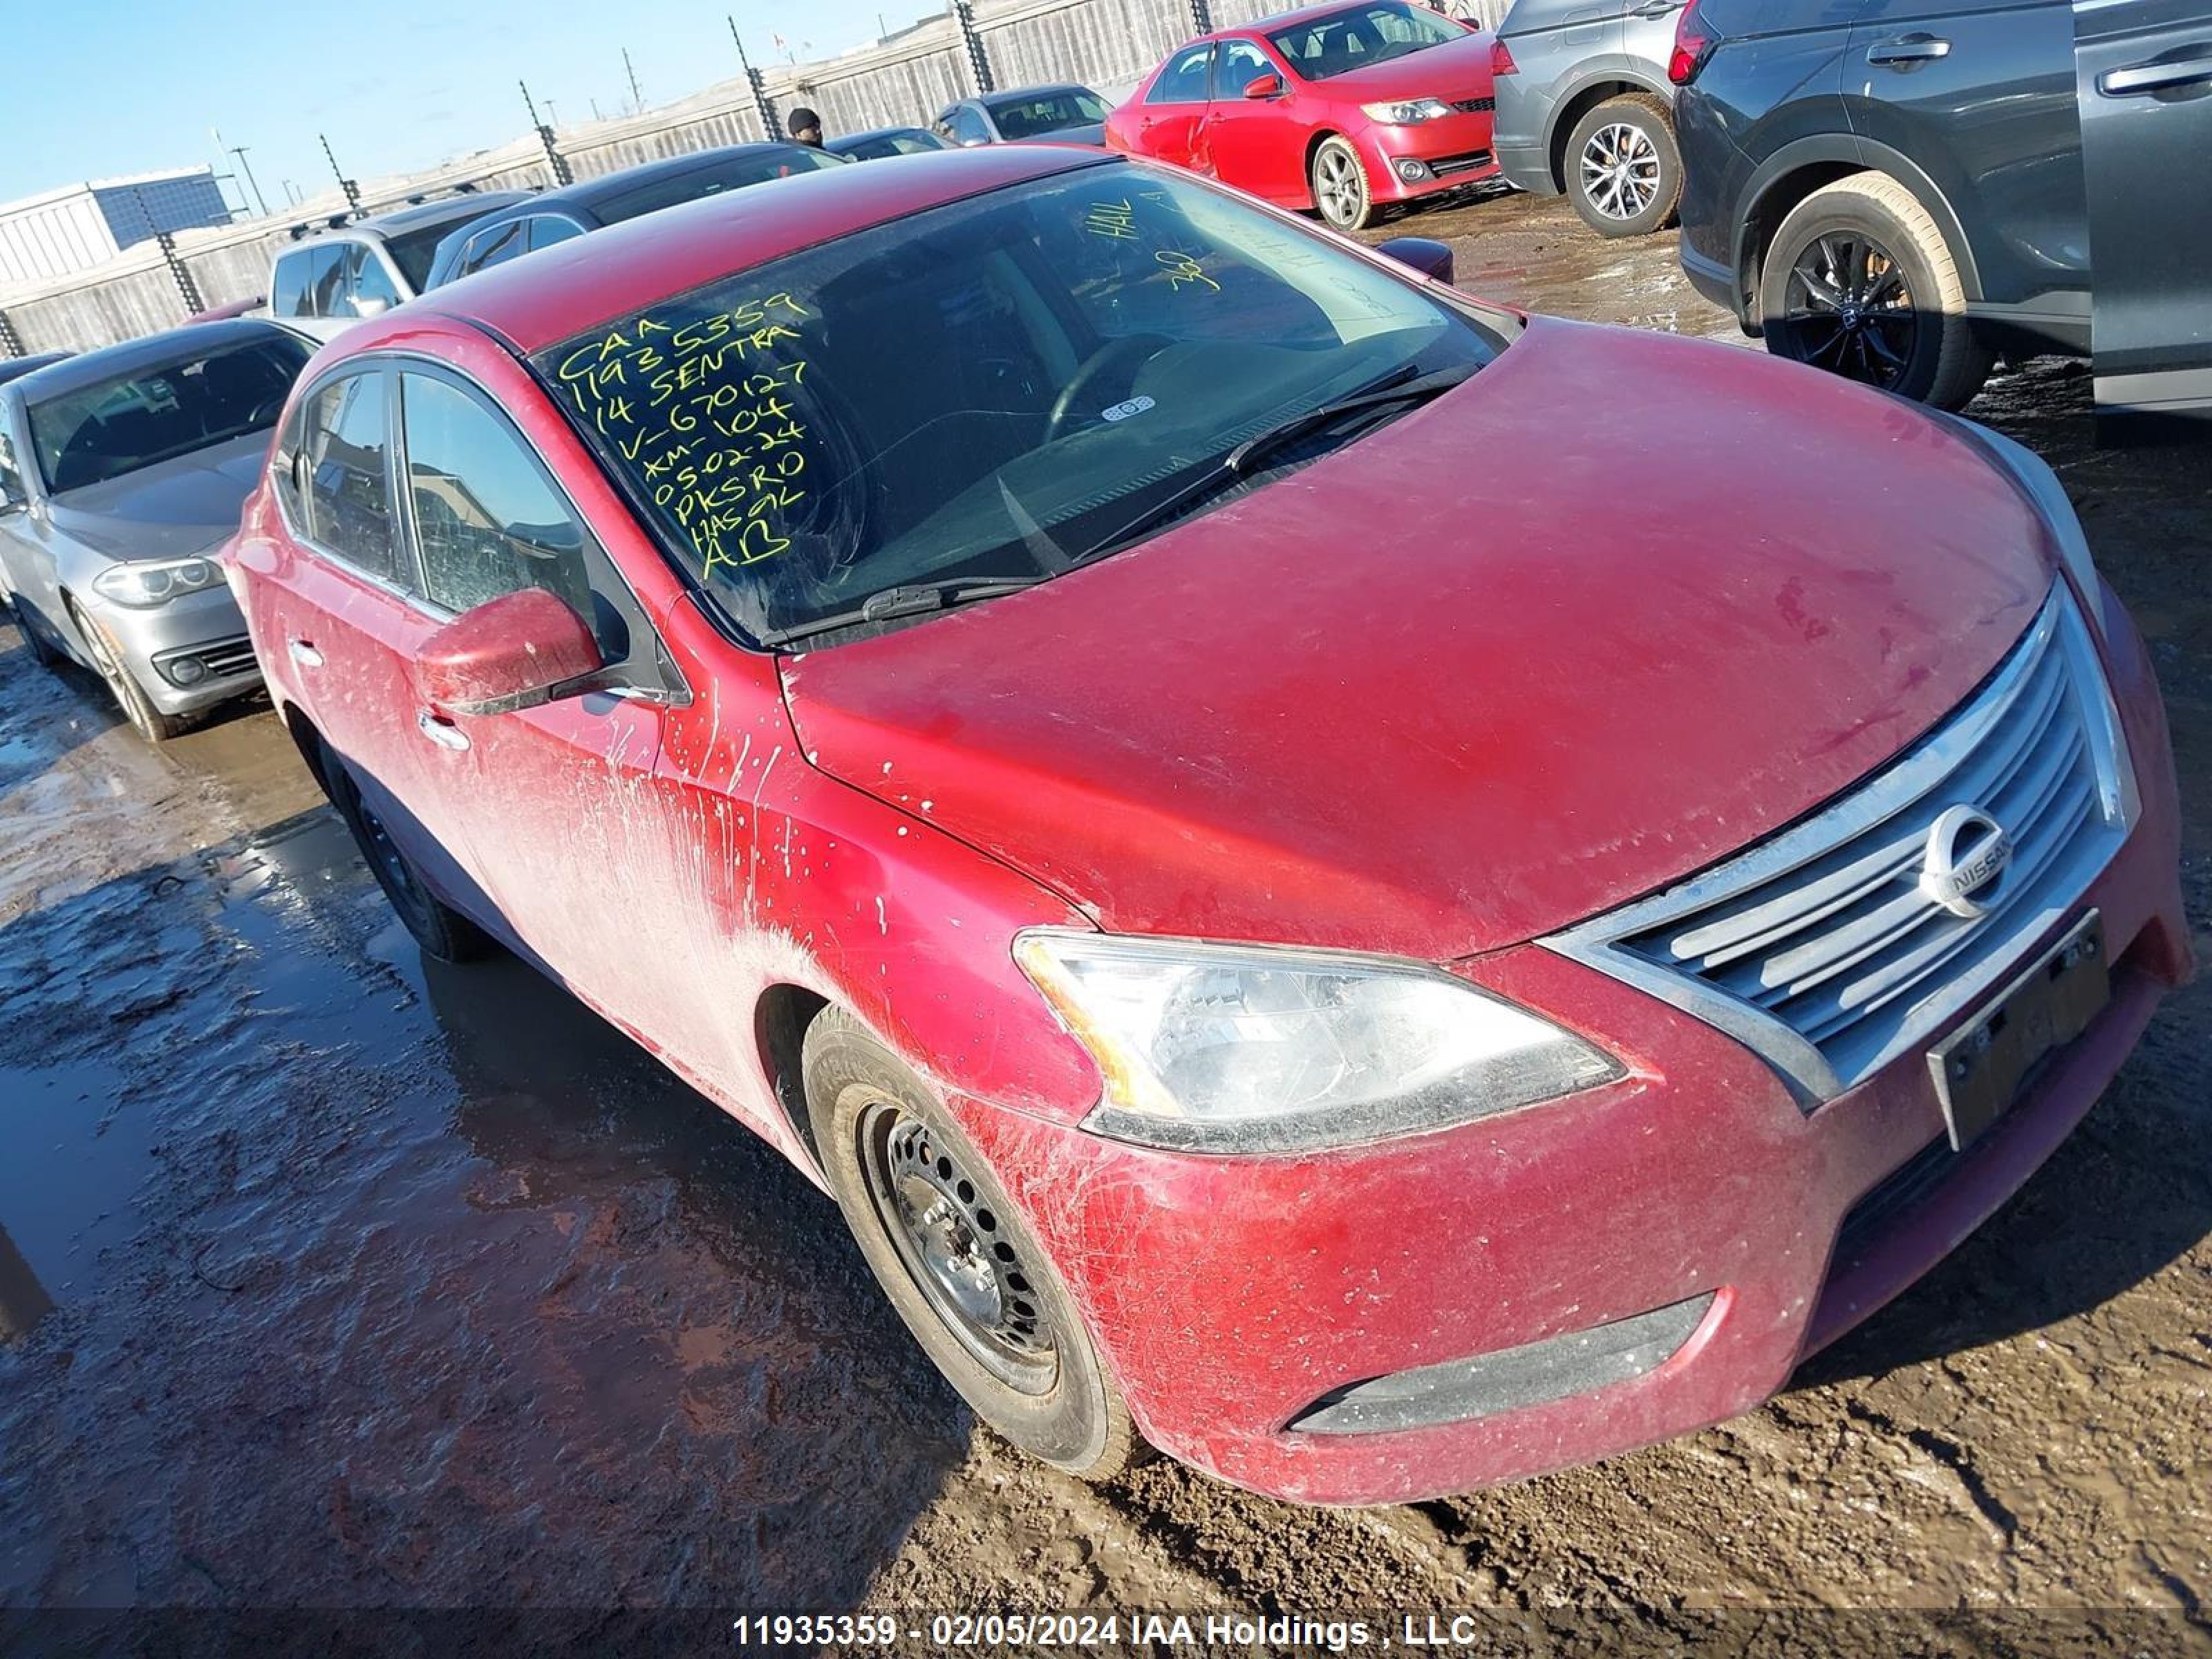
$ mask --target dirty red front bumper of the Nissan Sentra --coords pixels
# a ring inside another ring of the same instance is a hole
[[[1621,1082],[1296,1159],[1168,1155],[953,1106],[1029,1210],[1146,1436],[1241,1486],[1402,1502],[1736,1416],[2017,1190],[2188,973],[2163,710],[2132,630],[2112,655],[2141,816],[2081,900],[2106,922],[2112,1000],[1962,1155],[1924,1152],[1944,1121],[1920,1053],[1805,1115],[1732,1037],[1542,947],[1469,978],[1599,1040],[1626,1060]],[[1290,1427],[1371,1378],[1548,1352],[1537,1345],[1655,1310],[1688,1323],[1615,1380],[1493,1391],[1493,1409],[1433,1427]]]

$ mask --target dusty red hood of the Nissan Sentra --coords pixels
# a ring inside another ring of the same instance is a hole
[[[1537,319],[1290,478],[785,688],[816,765],[1102,927],[1449,960],[1867,776],[2053,568],[2020,491],[1905,403]]]

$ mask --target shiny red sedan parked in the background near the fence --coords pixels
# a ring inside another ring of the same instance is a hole
[[[1106,117],[1106,148],[1172,161],[1358,230],[1498,173],[1491,35],[1409,0],[1307,7],[1177,49]]]

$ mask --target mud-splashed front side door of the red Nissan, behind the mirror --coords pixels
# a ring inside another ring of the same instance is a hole
[[[507,942],[655,1046],[695,1018],[697,964],[635,949],[637,914],[688,872],[655,776],[672,668],[644,608],[515,422],[449,367],[405,361],[403,513],[442,615],[546,588],[599,639],[619,688],[540,708],[416,706],[449,768],[469,876]],[[653,891],[644,891],[653,889]]]

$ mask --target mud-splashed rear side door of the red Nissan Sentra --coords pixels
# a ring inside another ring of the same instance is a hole
[[[283,538],[241,544],[263,657],[338,754],[400,849],[471,914],[451,796],[467,757],[416,721],[411,664],[440,626],[392,509],[392,369],[380,358],[319,380],[276,447]]]

